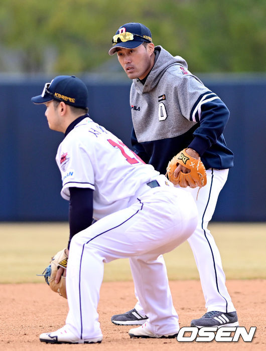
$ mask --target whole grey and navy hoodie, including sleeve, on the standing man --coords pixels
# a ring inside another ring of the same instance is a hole
[[[206,168],[233,165],[222,135],[229,111],[221,99],[191,72],[186,61],[155,47],[156,61],[145,82],[133,79],[130,105],[132,145],[155,169],[185,147],[196,150]]]

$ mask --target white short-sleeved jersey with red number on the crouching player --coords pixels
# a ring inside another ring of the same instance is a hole
[[[98,220],[129,206],[136,192],[159,172],[145,164],[120,139],[89,117],[66,135],[56,161],[61,171],[61,196],[69,200],[69,188],[90,188],[93,218]]]

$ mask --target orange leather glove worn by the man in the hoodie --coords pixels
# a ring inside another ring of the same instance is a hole
[[[177,178],[174,176],[174,171],[177,165],[181,164],[190,170],[189,173],[180,171]],[[179,185],[182,188],[204,187],[207,184],[207,175],[204,164],[200,159],[190,156],[186,149],[180,151],[174,156],[167,166],[167,176],[170,182]]]

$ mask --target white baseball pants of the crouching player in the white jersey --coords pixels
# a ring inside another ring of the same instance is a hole
[[[144,185],[140,193],[130,207],[100,219],[71,240],[66,324],[79,338],[102,335],[97,305],[104,263],[126,257],[135,257],[134,283],[149,313],[149,328],[159,334],[179,330],[165,265],[154,261],[193,233],[197,208],[191,195],[174,187]]]

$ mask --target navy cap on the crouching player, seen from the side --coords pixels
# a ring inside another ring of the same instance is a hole
[[[86,85],[75,76],[57,76],[50,83],[45,83],[41,95],[32,97],[34,104],[57,100],[67,105],[84,108],[88,107],[88,90]]]

